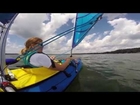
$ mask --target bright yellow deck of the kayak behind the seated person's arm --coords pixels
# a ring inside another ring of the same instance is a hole
[[[9,69],[7,68],[7,70]],[[13,84],[17,89],[22,89],[22,88],[31,86],[33,84],[36,84],[38,82],[41,82],[45,79],[48,79],[54,76],[55,74],[59,72],[53,69],[48,69],[46,67],[17,68],[10,71],[14,74],[15,79],[17,79],[15,81],[11,81],[11,84]],[[1,90],[2,89],[0,89],[0,91]]]

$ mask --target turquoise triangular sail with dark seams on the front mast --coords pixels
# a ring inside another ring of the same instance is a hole
[[[77,13],[72,48],[76,47],[96,24],[103,13]]]

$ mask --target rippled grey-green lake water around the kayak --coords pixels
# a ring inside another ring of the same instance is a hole
[[[6,55],[14,58],[17,55]],[[140,91],[140,53],[75,55],[83,69],[67,92],[136,92]],[[65,58],[65,56],[61,56]],[[21,62],[16,65],[20,65]],[[9,66],[15,68],[16,65]]]

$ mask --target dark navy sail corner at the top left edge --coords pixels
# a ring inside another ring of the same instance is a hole
[[[15,15],[16,13],[0,13],[0,22],[7,24]]]

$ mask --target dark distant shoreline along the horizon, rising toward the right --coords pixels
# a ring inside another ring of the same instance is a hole
[[[129,54],[129,53],[140,53],[140,48],[129,48],[129,49],[118,49],[110,52],[102,53],[73,53],[73,55],[85,55],[85,54]],[[6,53],[6,55],[19,55],[18,53]],[[57,55],[57,54],[48,54],[48,55]],[[69,55],[69,54],[64,54]]]

